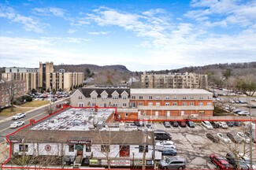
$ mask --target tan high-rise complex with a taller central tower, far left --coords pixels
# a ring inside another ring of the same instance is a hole
[[[4,80],[24,80],[27,84],[26,91],[35,90],[65,90],[69,91],[73,87],[83,84],[83,72],[65,72],[60,69],[54,72],[54,63],[39,63],[39,68],[6,68],[6,72],[2,73]]]

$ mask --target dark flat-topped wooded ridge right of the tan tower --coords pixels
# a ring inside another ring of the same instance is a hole
[[[89,68],[91,72],[102,71],[117,71],[117,72],[131,72],[124,65],[54,65],[55,72],[64,68],[65,72],[84,72],[85,68]]]

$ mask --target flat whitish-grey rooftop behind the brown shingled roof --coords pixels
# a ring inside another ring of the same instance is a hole
[[[72,108],[36,124],[31,130],[89,131],[102,126],[115,109],[77,109]]]

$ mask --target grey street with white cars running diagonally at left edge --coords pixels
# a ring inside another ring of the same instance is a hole
[[[57,104],[64,102],[66,99],[67,98],[52,103],[53,107],[56,108]],[[49,105],[45,105],[39,109],[35,109],[33,112],[28,111],[27,115],[24,118],[19,119],[19,121],[25,121],[25,124],[29,124],[31,119],[39,120],[45,116],[48,116],[48,113],[46,113],[46,107],[48,106]],[[0,142],[3,142],[4,139],[6,139],[6,135],[9,135],[13,131],[17,131],[17,128],[9,128],[9,125],[13,124],[14,121],[18,120],[7,120],[6,122],[0,123]]]

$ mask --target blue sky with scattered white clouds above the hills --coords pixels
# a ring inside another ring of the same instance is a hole
[[[0,1],[0,67],[256,61],[256,0]]]

